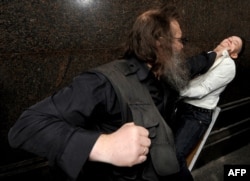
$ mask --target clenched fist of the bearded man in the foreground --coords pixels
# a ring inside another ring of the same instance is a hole
[[[149,132],[134,123],[126,123],[112,134],[102,134],[96,141],[90,161],[100,161],[116,166],[128,166],[147,159],[151,140]]]

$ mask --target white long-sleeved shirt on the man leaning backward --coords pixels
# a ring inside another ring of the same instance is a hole
[[[222,56],[217,58],[212,67],[200,76],[190,81],[188,86],[180,92],[184,102],[205,108],[214,109],[220,94],[236,74],[234,60],[224,50]]]

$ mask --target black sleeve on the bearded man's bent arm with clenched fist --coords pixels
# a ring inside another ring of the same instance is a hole
[[[56,94],[22,113],[8,133],[9,143],[59,166],[77,178],[100,133],[85,129],[105,100],[106,82],[81,75]]]

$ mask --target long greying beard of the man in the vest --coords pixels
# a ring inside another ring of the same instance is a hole
[[[170,60],[165,60],[164,62],[161,79],[166,81],[174,90],[182,90],[190,80],[184,55],[182,53],[174,53]]]

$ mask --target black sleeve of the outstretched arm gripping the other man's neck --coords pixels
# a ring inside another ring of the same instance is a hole
[[[213,65],[216,59],[215,52],[201,52],[196,56],[187,59],[187,66],[190,72],[190,78],[204,74]]]

